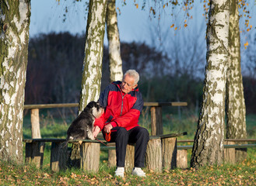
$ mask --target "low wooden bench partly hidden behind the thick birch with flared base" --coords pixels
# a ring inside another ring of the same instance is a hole
[[[241,142],[256,142],[256,139],[226,139],[224,140],[224,161],[229,164],[235,164],[235,150],[236,149],[247,149],[256,147],[254,144],[236,144]],[[177,143],[194,143],[194,140],[178,140]],[[177,146],[177,167],[188,168],[188,152],[191,150],[192,145]]]

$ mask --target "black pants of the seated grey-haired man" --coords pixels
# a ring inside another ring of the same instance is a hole
[[[105,133],[103,133],[103,136],[105,137]],[[128,131],[119,126],[111,129],[110,142],[116,143],[117,167],[124,167],[126,146],[128,143],[135,143],[135,167],[145,167],[145,154],[148,141],[149,132],[141,126],[136,126]]]

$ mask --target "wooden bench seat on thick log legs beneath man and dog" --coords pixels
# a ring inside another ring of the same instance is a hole
[[[150,136],[146,150],[146,167],[156,172],[162,168],[170,169],[176,167],[177,157],[177,136],[184,136],[187,133],[176,133],[169,135]],[[35,164],[40,168],[43,166],[45,143],[51,143],[51,170],[65,170],[68,162],[68,148],[65,146],[65,139],[24,139],[26,143],[26,162]],[[106,143],[105,141],[103,141]],[[96,172],[99,170],[100,163],[100,142],[97,140],[68,140],[68,143],[79,144],[80,167],[84,171]],[[115,165],[115,150],[107,146],[109,160]],[[102,146],[102,150],[106,150]],[[110,155],[112,154],[112,156]],[[128,144],[125,168],[132,170],[134,167],[134,144]]]

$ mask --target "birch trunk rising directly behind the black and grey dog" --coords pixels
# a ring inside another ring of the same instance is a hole
[[[100,96],[107,0],[89,1],[79,112]]]

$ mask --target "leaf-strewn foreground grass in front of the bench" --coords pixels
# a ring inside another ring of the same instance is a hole
[[[135,177],[128,171],[124,178],[113,177],[114,167],[107,167],[107,162],[100,163],[97,174],[86,173],[79,169],[68,169],[65,172],[53,173],[49,168],[38,170],[22,164],[6,163],[0,160],[1,185],[255,185],[256,153],[240,164],[223,164],[205,166],[198,170],[165,170],[162,173],[146,171],[147,177]]]

